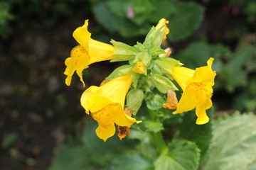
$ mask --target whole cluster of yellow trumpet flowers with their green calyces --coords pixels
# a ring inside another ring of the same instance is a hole
[[[118,127],[119,138],[129,135],[133,123],[141,121],[132,118],[136,115],[146,94],[156,88],[161,94],[167,94],[164,108],[176,109],[173,113],[183,113],[196,108],[196,124],[208,123],[206,110],[212,106],[210,100],[214,84],[215,72],[211,69],[213,58],[207,66],[188,69],[182,63],[169,57],[171,50],[161,49],[166,40],[169,21],[162,18],[156,27],[152,27],[143,43],[137,42],[129,46],[123,42],[111,40],[108,45],[90,38],[87,30],[88,20],[77,28],[73,37],[79,45],[71,50],[70,57],[65,60],[67,75],[65,84],[70,86],[74,72],[80,77],[83,86],[82,71],[90,64],[105,60],[124,62],[124,64],[106,77],[100,86],[90,86],[81,96],[81,105],[85,113],[92,115],[97,121],[96,134],[106,141],[112,137]],[[178,101],[175,91],[181,87],[183,94]]]

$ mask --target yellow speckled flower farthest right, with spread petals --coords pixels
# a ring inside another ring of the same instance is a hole
[[[174,114],[191,111],[196,108],[197,120],[196,124],[201,125],[208,123],[209,118],[206,115],[206,110],[213,103],[210,100],[213,95],[214,78],[216,73],[213,72],[211,66],[213,58],[207,62],[207,66],[196,68],[196,70],[186,67],[172,67],[171,76],[175,79],[183,94]]]

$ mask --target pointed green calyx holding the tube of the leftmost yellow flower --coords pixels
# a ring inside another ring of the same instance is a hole
[[[123,42],[117,42],[115,40],[111,40],[110,42],[112,45],[114,45],[115,48],[114,53],[112,54],[115,56],[115,58],[110,60],[110,62],[132,60],[137,54],[137,51],[134,49],[134,47],[124,44]]]

